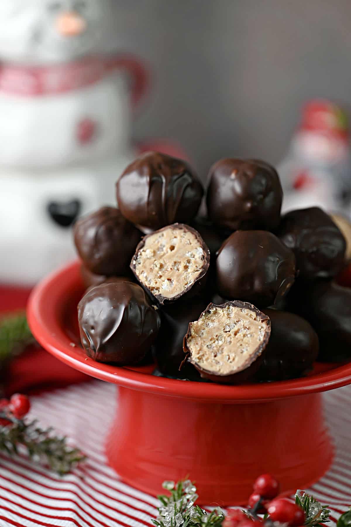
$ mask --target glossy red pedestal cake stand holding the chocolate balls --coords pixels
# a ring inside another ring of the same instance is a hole
[[[152,366],[99,364],[79,344],[76,306],[82,294],[75,262],[35,288],[28,321],[49,353],[117,385],[106,453],[124,481],[155,495],[163,480],[189,475],[200,502],[244,505],[259,474],[275,474],[290,493],[326,472],[333,447],[320,392],[351,383],[351,364],[317,363],[308,377],[242,386],[155,377]]]

